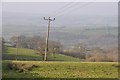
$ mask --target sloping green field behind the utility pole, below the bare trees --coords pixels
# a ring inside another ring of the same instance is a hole
[[[16,48],[8,47],[7,53],[3,53],[5,60],[15,60],[16,59]],[[38,55],[34,50],[18,48],[18,60],[43,60],[42,55]],[[48,61],[80,61],[78,58],[62,55],[62,54],[48,54]]]

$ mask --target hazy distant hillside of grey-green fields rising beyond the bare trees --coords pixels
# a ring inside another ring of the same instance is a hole
[[[33,25],[4,25],[3,37],[9,39],[11,36],[39,35],[46,36],[47,26],[39,27]],[[14,27],[11,28],[11,27]],[[20,27],[20,29],[15,28]],[[61,26],[50,28],[50,39],[62,43],[64,47],[70,47],[77,43],[88,46],[108,47],[117,45],[118,28],[115,26]]]

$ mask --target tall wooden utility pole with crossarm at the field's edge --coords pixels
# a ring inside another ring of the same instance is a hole
[[[50,22],[51,21],[54,21],[55,18],[45,18],[44,17],[44,20],[47,20],[48,21],[48,29],[47,29],[47,35],[46,35],[46,47],[45,47],[45,54],[44,54],[44,61],[47,60],[47,52],[48,52],[48,40],[49,40],[49,31],[50,31]]]

